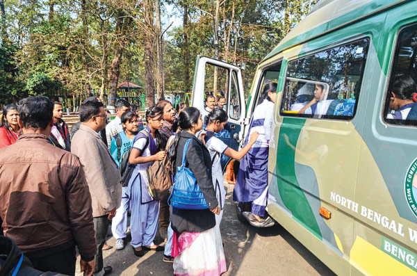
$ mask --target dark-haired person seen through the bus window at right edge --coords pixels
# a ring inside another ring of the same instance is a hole
[[[409,74],[396,75],[389,97],[389,108],[391,112],[386,115],[386,118],[406,120],[407,115],[414,105],[414,95],[416,94],[416,81]]]

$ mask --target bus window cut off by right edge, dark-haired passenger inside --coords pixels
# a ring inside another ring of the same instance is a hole
[[[417,125],[416,28],[413,24],[398,33],[383,113],[389,124]]]

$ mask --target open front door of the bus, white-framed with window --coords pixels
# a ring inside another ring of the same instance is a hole
[[[229,116],[229,121],[216,136],[232,149],[238,150],[243,143],[245,120],[245,96],[243,93],[242,74],[239,67],[224,63],[206,56],[197,57],[194,74],[192,106],[199,108],[203,121],[208,115],[207,97],[226,98],[222,106]],[[222,156],[222,167],[228,162],[227,156]]]

